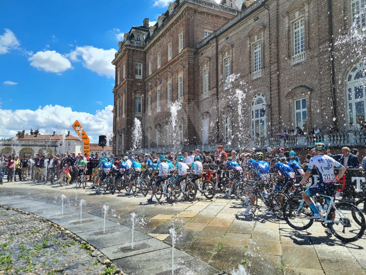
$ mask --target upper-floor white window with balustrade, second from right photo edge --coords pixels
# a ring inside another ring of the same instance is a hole
[[[292,65],[305,61],[305,18],[296,18],[292,29]]]

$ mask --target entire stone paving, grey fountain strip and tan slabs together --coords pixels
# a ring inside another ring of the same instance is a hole
[[[193,202],[180,197],[171,205],[147,203],[141,193],[124,190],[100,195],[30,182],[4,183],[0,203],[37,213],[100,249],[127,274],[172,274],[172,238],[175,228],[174,274],[250,275],[366,275],[365,236],[343,244],[327,235],[321,223],[296,231],[275,216],[257,210],[257,218],[240,216],[240,201],[216,194],[212,200],[198,196]],[[14,195],[13,195],[14,193]],[[64,198],[63,215],[61,195]],[[198,194],[197,194],[198,195]],[[81,199],[82,223],[80,223]],[[103,205],[109,206],[104,225]],[[131,213],[134,220],[134,246]],[[103,231],[105,232],[103,233]],[[168,273],[166,273],[168,272]],[[170,272],[170,273],[169,273]]]

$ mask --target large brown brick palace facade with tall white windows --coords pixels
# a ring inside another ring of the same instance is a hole
[[[340,131],[349,122],[361,126],[363,1],[230,5],[177,0],[155,26],[145,19],[125,34],[112,62],[116,154],[132,147],[135,117],[144,148],[219,142],[265,147],[296,126],[306,133],[314,126],[328,132],[333,123]],[[182,108],[172,128],[175,101]]]

